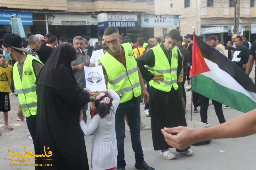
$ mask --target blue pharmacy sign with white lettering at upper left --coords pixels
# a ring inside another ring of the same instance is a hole
[[[33,25],[33,15],[30,12],[0,11],[0,25],[11,25],[11,16],[21,19],[22,25]]]

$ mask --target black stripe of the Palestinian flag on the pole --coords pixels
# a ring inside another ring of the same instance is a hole
[[[224,54],[221,54],[217,49],[198,38],[196,35],[195,40],[202,52],[202,55],[206,59],[216,63],[221,70],[232,76],[242,87],[244,87],[244,89],[256,93],[256,86],[239,66],[229,60]]]

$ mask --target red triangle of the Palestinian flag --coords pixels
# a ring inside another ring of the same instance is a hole
[[[201,53],[201,50],[197,44],[196,37],[194,34],[192,49],[192,66],[190,69],[190,73],[193,73],[194,77],[196,77],[197,74],[201,74],[208,71],[211,70],[204,61],[204,56]]]

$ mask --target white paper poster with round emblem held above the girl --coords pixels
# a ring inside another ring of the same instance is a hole
[[[86,67],[84,66],[86,88],[91,91],[104,91],[106,84],[102,66]]]

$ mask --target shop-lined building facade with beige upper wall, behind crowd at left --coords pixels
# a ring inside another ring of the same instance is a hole
[[[153,33],[153,29],[141,28],[140,15],[154,14],[155,8],[154,0],[1,0],[0,37],[11,32],[11,25],[1,22],[6,21],[6,18],[1,20],[1,12],[3,15],[6,12],[32,15],[32,23],[23,23],[25,33],[51,33],[65,38],[77,35],[97,38],[102,35],[97,27],[97,16],[101,13],[136,15],[137,25],[133,29],[120,26],[122,35],[134,38],[137,34],[143,33],[148,37]]]

